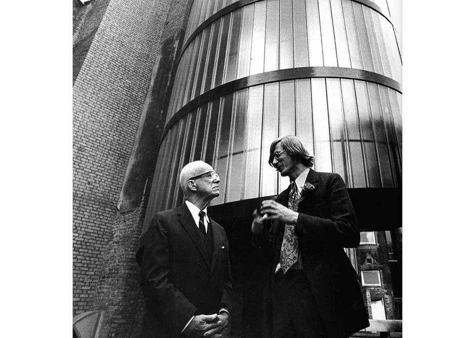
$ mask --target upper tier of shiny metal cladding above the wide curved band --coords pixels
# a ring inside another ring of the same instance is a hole
[[[393,27],[372,2],[241,0],[225,8],[222,2],[209,5],[203,0],[193,4],[201,12],[193,16],[192,8],[188,31],[196,20],[202,23],[184,44],[175,80],[175,87],[184,88],[173,91],[168,116],[209,89],[262,71],[345,67],[401,81]],[[210,14],[210,8],[219,13]]]

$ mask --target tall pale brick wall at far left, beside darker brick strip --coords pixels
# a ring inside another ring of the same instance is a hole
[[[100,25],[73,86],[73,314],[96,308],[104,254],[110,243],[121,245],[113,232],[117,198],[169,9],[146,0],[90,5],[106,11],[90,16]]]

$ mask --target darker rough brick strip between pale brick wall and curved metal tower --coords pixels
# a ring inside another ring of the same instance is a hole
[[[173,0],[170,4],[159,56],[152,73],[153,80],[145,93],[142,114],[136,121],[135,144],[125,178],[124,175],[121,178],[124,178],[123,191],[128,188],[128,191],[140,192],[140,198],[139,203],[134,204],[135,199],[125,194],[124,199],[129,202],[121,200],[120,205],[125,203],[127,207],[121,208],[123,212],[116,214],[112,224],[95,303],[96,308],[107,309],[101,336],[135,337],[140,331],[144,300],[139,287],[140,267],[135,262],[135,252],[190,6],[191,0],[184,4],[183,1]],[[137,176],[143,176],[145,180],[139,180]],[[137,186],[131,188],[130,185]],[[130,203],[131,199],[134,203]]]

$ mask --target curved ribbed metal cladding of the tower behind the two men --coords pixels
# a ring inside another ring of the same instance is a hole
[[[314,151],[316,170],[340,174],[348,187],[400,187],[400,87],[338,71],[266,77],[301,67],[352,68],[401,82],[386,2],[195,0],[147,215],[183,202],[177,176],[196,159],[220,175],[214,204],[277,194],[288,179],[268,165],[268,147],[289,134]],[[255,74],[260,83],[219,93]],[[218,94],[205,95],[212,89]],[[185,106],[193,99],[199,104]]]

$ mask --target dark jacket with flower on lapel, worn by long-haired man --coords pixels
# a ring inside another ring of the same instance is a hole
[[[338,174],[310,169],[306,182],[313,190],[302,190],[295,232],[314,300],[325,328],[332,336],[348,336],[369,326],[368,314],[358,281],[344,247],[357,247],[360,232],[346,186]],[[276,199],[286,205],[290,186]],[[269,288],[279,263],[285,225],[273,222],[269,231],[272,255],[266,292],[265,321],[270,330],[272,319]],[[271,334],[270,334],[271,336]]]

